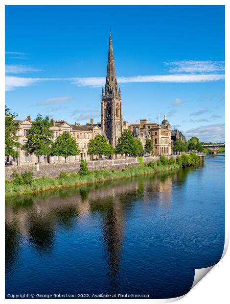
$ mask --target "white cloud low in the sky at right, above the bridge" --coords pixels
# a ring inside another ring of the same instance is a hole
[[[185,132],[185,136],[187,139],[192,136],[197,136],[199,137],[200,141],[203,142],[225,142],[225,124],[215,124],[192,128]]]

